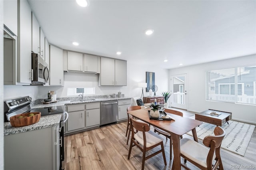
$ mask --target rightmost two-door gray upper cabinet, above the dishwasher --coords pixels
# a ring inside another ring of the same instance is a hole
[[[127,62],[101,57],[99,85],[127,85]]]

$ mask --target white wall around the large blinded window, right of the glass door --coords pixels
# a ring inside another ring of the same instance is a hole
[[[188,74],[188,110],[202,112],[206,109],[216,109],[232,112],[232,118],[249,123],[256,123],[256,106],[235,103],[206,101],[206,75],[209,70],[226,69],[245,65],[256,65],[256,55],[237,57],[222,61],[203,63],[188,67],[170,69],[169,75]],[[169,76],[169,80],[170,80]],[[170,88],[170,87],[169,87]],[[173,95],[171,96],[173,97]]]

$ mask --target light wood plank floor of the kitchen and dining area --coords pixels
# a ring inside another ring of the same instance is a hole
[[[190,114],[186,115],[184,113],[184,116],[190,117]],[[65,170],[141,169],[142,152],[136,146],[132,148],[130,160],[127,160],[130,142],[126,145],[126,125],[127,122],[122,122],[65,136],[66,157],[63,166]],[[184,136],[192,138],[192,136],[186,134]],[[164,137],[163,140],[167,166],[164,166],[162,154],[158,154],[146,160],[145,169],[171,169],[170,141],[169,139],[166,141]],[[202,140],[199,140],[199,142],[202,143]],[[158,149],[154,148],[148,153],[156,152]],[[240,156],[224,149],[221,150],[221,156],[224,170],[232,169],[230,165],[252,165],[256,168],[256,129],[254,129],[245,156]],[[192,170],[198,169],[189,162],[187,162],[187,166]]]

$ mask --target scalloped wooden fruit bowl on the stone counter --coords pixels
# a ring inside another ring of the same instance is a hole
[[[30,113],[34,113],[35,115],[28,117]],[[10,123],[12,127],[28,126],[28,125],[37,123],[40,120],[41,112],[30,112],[30,113],[22,113],[22,114],[10,117]],[[23,116],[23,118],[18,118],[19,116]]]

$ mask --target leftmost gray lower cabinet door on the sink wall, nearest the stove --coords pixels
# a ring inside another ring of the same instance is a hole
[[[68,131],[84,128],[84,111],[69,112],[68,115]]]

